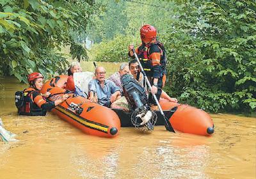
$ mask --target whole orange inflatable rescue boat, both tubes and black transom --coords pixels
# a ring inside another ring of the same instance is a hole
[[[49,91],[49,100],[60,98],[65,92],[67,75],[59,75],[47,81],[41,93]],[[196,134],[201,136],[211,136],[214,133],[214,124],[211,116],[201,109],[190,105],[177,104],[166,100],[160,100],[163,112],[175,130],[180,132]],[[120,127],[134,127],[132,125],[132,112],[122,109],[109,109],[89,102],[84,97],[75,97],[70,93],[70,97],[62,104],[52,109],[61,119],[68,121],[86,134],[102,137],[115,137],[120,131]],[[156,125],[164,125],[165,121],[159,111]]]

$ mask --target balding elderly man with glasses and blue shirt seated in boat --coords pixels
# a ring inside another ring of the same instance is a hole
[[[113,81],[106,79],[106,70],[102,66],[95,69],[96,79],[89,82],[89,99],[100,105],[110,107],[121,97],[121,89]]]

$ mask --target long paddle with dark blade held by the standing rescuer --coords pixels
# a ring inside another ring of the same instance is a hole
[[[150,82],[148,81],[147,75],[145,74],[143,67],[141,66],[140,59],[138,58],[138,56],[137,56],[136,52],[134,51],[134,49],[132,49],[132,52],[133,52],[133,54],[134,54],[134,56],[135,56],[137,62],[138,62],[139,65],[140,65],[141,74],[143,74],[144,79],[146,80],[147,85],[148,85],[150,91],[152,91],[151,84],[150,84]],[[152,94],[152,95],[153,95],[153,94]],[[158,109],[159,109],[161,115],[162,115],[163,118],[164,118],[164,121],[165,121],[164,127],[166,128],[166,130],[175,133],[175,131],[174,131],[174,129],[173,129],[173,127],[172,127],[170,121],[169,121],[169,120],[166,118],[166,116],[164,115],[164,112],[163,112],[163,110],[162,110],[162,108],[161,108],[161,105],[159,104],[159,102],[158,102],[158,100],[157,100],[157,98],[156,98],[156,95],[153,95],[153,97],[154,97],[154,100],[156,100],[156,104],[157,104],[157,107],[158,107]]]

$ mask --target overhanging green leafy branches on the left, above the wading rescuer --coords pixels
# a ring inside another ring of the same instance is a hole
[[[61,73],[67,65],[59,52],[63,45],[71,45],[74,57],[86,57],[86,51],[75,43],[74,34],[85,31],[93,12],[89,3],[0,1],[0,72],[24,82],[33,71],[43,75]]]

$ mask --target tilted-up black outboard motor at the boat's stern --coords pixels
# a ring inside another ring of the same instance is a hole
[[[157,115],[154,111],[150,111],[145,88],[129,74],[123,75],[121,82],[124,96],[134,110],[131,116],[132,124],[140,130],[143,130],[143,126],[147,127],[147,130],[154,130]]]

